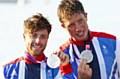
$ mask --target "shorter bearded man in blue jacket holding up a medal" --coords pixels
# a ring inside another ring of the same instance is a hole
[[[44,50],[47,45],[51,24],[40,13],[24,21],[25,56],[4,66],[5,79],[67,79],[72,72],[69,58],[60,53],[60,67],[50,68]],[[69,68],[69,70],[67,70]]]

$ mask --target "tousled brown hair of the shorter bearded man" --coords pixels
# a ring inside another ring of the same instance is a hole
[[[47,29],[48,33],[51,32],[51,24],[41,13],[24,21],[24,33],[32,33],[40,29]]]

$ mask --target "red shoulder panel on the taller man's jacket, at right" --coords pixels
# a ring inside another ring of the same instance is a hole
[[[91,32],[92,37],[101,37],[116,40],[116,36],[105,32]]]

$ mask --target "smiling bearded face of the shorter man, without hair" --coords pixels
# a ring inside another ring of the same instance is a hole
[[[47,45],[48,37],[46,29],[24,34],[27,51],[34,56],[40,55]]]

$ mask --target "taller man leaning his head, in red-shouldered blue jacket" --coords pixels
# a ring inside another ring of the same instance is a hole
[[[57,13],[61,26],[70,35],[60,49],[69,55],[74,77],[118,79],[116,53],[120,51],[116,52],[116,37],[89,29],[87,13],[80,0],[62,0]]]

